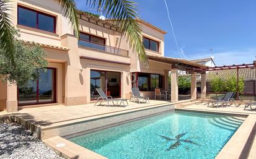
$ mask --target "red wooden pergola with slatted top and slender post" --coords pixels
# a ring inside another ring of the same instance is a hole
[[[226,70],[226,69],[236,69],[237,70],[237,100],[239,100],[239,69],[244,68],[254,68],[256,67],[256,61],[252,64],[233,64],[229,66],[216,66],[216,67],[200,67],[200,68],[191,68],[188,69],[189,72],[204,72],[204,71],[217,71],[217,70]]]

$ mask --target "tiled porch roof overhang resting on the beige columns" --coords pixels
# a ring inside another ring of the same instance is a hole
[[[204,66],[203,64],[191,62],[186,59],[168,58],[168,57],[153,56],[153,55],[148,55],[148,58],[153,61],[165,62],[165,63],[171,64],[172,65],[171,68],[180,69],[182,71],[194,72],[193,71],[194,69],[207,68],[207,66]]]

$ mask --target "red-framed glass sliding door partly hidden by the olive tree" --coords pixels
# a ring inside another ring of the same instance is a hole
[[[34,105],[56,102],[56,69],[40,71],[37,80],[30,80],[24,87],[18,87],[18,104]]]

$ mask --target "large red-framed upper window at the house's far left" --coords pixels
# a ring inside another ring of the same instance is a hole
[[[18,24],[56,33],[56,17],[18,6]]]

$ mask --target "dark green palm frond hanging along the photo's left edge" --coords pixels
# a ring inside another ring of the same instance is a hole
[[[15,65],[15,32],[12,27],[11,15],[8,14],[8,12],[11,11],[9,2],[10,1],[6,0],[0,1],[0,48],[11,64]]]

